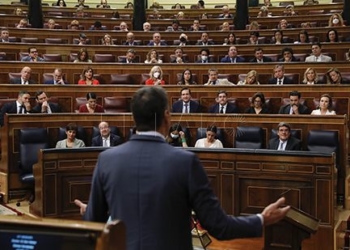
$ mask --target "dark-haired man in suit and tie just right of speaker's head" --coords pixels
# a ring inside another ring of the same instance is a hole
[[[200,113],[200,106],[198,102],[191,100],[191,90],[189,88],[182,88],[180,91],[181,100],[173,104],[171,112],[173,113]]]

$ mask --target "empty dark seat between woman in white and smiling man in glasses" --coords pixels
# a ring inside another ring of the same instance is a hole
[[[261,127],[237,127],[235,134],[235,148],[264,148],[264,132]]]

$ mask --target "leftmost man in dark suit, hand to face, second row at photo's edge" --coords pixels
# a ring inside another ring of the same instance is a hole
[[[0,111],[0,126],[4,126],[5,114],[26,114],[32,112],[29,100],[29,92],[26,90],[21,90],[18,93],[18,98],[15,102],[5,103]]]

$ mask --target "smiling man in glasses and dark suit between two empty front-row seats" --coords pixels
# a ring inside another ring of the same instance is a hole
[[[268,149],[274,150],[301,150],[301,141],[290,133],[290,125],[280,122],[277,126],[278,137],[269,141]]]

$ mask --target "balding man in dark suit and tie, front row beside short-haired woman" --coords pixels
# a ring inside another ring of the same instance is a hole
[[[109,128],[107,122],[100,122],[98,128],[101,134],[92,138],[91,146],[114,147],[123,143],[122,139],[119,136],[111,133],[111,129]]]

